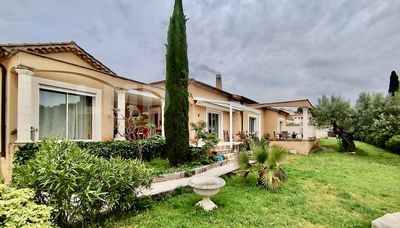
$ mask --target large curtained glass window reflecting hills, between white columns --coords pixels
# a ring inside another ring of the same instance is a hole
[[[93,97],[40,89],[39,139],[92,139]]]

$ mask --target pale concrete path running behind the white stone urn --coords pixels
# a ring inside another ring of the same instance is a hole
[[[232,171],[235,171],[238,168],[239,168],[239,164],[237,163],[237,161],[232,161],[229,164],[226,164],[226,165],[223,165],[220,167],[216,167],[216,168],[210,169],[204,173],[200,173],[200,174],[193,175],[193,176],[219,177],[219,176],[225,175],[227,173],[230,173]],[[164,193],[164,192],[171,192],[179,187],[188,186],[190,178],[191,177],[185,177],[185,178],[180,178],[180,179],[176,179],[176,180],[169,180],[169,181],[153,183],[149,189],[142,190],[138,194],[138,196],[151,196],[151,195],[157,195],[157,194]]]

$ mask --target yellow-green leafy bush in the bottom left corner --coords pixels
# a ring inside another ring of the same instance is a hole
[[[51,227],[51,208],[37,205],[31,189],[15,189],[0,184],[1,227]]]

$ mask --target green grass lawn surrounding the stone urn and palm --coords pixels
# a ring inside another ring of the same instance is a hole
[[[400,211],[400,156],[357,143],[363,155],[335,152],[288,155],[289,179],[277,192],[256,186],[255,176],[224,177],[227,186],[213,198],[219,208],[203,212],[189,189],[154,200],[139,214],[108,219],[109,227],[370,227],[385,213]]]

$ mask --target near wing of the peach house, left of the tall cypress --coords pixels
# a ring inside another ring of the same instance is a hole
[[[75,42],[0,45],[0,67],[0,171],[6,179],[20,144],[52,135],[120,139],[116,107],[151,112],[162,131],[164,90],[117,75]]]

